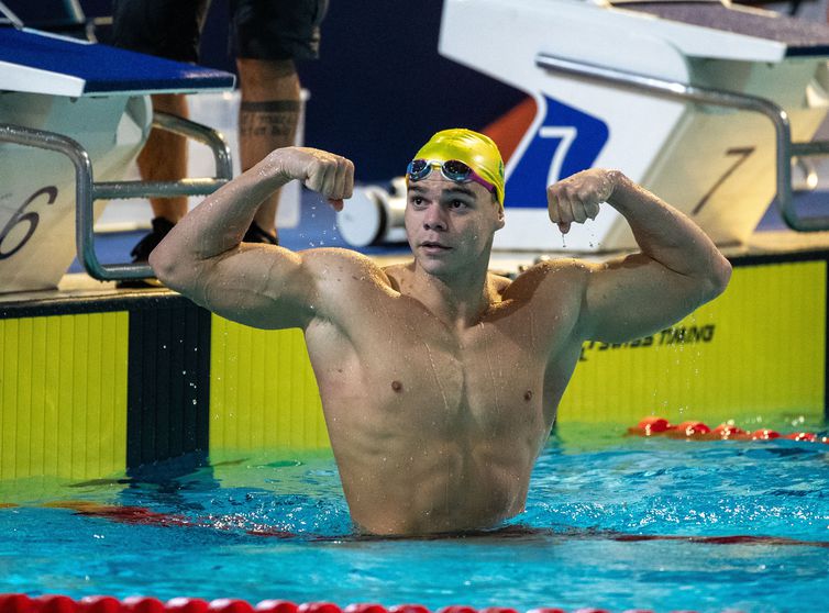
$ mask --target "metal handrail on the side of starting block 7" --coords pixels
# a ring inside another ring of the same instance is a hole
[[[798,232],[829,230],[829,216],[800,218],[797,214],[792,198],[792,158],[829,155],[829,141],[793,143],[788,114],[771,100],[744,93],[667,81],[626,70],[564,59],[545,53],[535,56],[535,65],[545,70],[612,83],[626,89],[648,91],[665,98],[699,102],[712,107],[740,109],[765,115],[774,125],[777,203],[780,204],[783,220],[788,227]]]

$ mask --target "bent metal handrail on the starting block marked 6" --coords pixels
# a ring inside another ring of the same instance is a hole
[[[153,126],[190,137],[209,146],[215,160],[213,178],[188,178],[179,181],[104,181],[96,183],[92,163],[84,146],[63,134],[13,124],[0,124],[0,142],[37,147],[64,154],[75,166],[75,243],[78,259],[86,271],[101,281],[146,279],[154,276],[146,264],[101,264],[95,250],[96,200],[122,198],[168,198],[205,196],[226,183],[233,176],[230,147],[224,137],[210,127],[170,115],[156,113]]]

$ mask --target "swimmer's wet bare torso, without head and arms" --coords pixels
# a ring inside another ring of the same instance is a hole
[[[387,268],[386,283],[336,274],[341,321],[355,323],[314,320],[306,338],[356,524],[456,532],[521,512],[581,350],[572,297],[533,300],[537,281],[490,276],[487,312],[453,330],[407,296],[407,267]]]

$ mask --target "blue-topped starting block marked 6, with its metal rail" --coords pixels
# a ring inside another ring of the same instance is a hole
[[[173,115],[154,118],[150,94],[224,91],[234,80],[220,70],[0,27],[0,292],[56,287],[76,252],[97,279],[151,277],[148,266],[98,261],[92,225],[101,201],[207,194],[230,180],[221,134]],[[215,176],[121,181],[152,126],[208,145]]]

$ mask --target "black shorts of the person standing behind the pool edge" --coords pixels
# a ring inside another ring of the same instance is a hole
[[[111,43],[178,62],[197,62],[210,0],[114,0]],[[328,0],[230,0],[235,57],[313,59]]]

